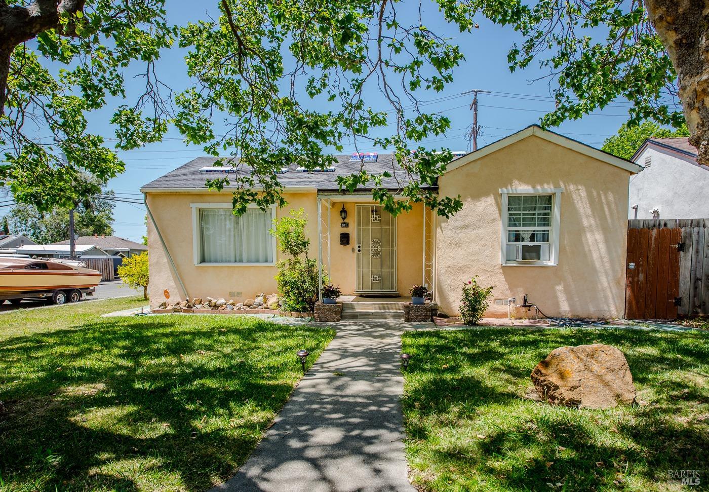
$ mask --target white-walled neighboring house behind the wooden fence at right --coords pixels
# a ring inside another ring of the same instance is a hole
[[[648,138],[632,156],[628,218],[708,218],[709,167],[686,137]]]

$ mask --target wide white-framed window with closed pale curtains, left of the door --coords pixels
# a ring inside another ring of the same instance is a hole
[[[269,233],[276,209],[249,206],[241,216],[231,203],[191,203],[194,264],[273,265],[276,238]]]

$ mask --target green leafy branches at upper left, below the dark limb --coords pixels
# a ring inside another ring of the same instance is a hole
[[[105,181],[125,169],[104,139],[91,134],[86,114],[103,108],[106,94],[124,95],[123,69],[131,62],[147,65],[145,92],[133,106],[118,108],[111,120],[118,147],[159,141],[172,118],[167,87],[157,81],[152,65],[174,40],[163,1],[92,0],[79,11],[62,11],[62,6],[59,21],[35,33],[36,43],[13,50],[0,116],[9,164],[0,167],[0,184],[39,211],[67,207],[95,193],[84,179],[87,174]],[[60,68],[50,71],[57,64]]]

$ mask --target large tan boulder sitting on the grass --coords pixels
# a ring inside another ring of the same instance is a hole
[[[553,350],[532,371],[532,383],[555,405],[610,408],[635,402],[625,355],[601,343]]]

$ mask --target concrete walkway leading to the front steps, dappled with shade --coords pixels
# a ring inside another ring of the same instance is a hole
[[[252,457],[213,491],[413,492],[399,403],[406,326],[337,323]]]

